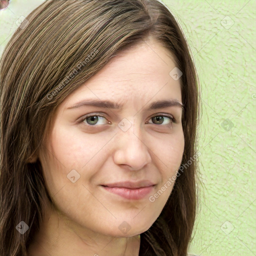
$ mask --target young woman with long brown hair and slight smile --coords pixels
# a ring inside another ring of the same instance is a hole
[[[48,0],[0,61],[0,255],[186,255],[198,88],[157,0]]]

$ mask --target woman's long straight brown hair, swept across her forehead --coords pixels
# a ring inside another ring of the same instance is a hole
[[[56,107],[112,57],[148,36],[182,71],[184,152],[171,194],[140,235],[139,255],[183,256],[196,214],[199,93],[186,40],[157,0],[47,0],[8,41],[0,59],[0,255],[27,256],[49,195],[40,161],[28,162],[51,131]],[[74,71],[75,70],[75,71]],[[29,225],[21,234],[20,221]]]

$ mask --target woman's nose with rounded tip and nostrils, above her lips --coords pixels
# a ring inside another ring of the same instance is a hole
[[[145,134],[135,125],[126,130],[118,130],[115,137],[113,160],[128,170],[140,170],[151,162],[150,150],[146,145]]]

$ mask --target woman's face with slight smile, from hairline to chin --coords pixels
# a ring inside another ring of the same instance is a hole
[[[182,108],[161,103],[182,103],[174,67],[160,44],[141,42],[58,106],[48,154],[39,158],[54,207],[69,223],[124,237],[159,216],[184,149]]]

